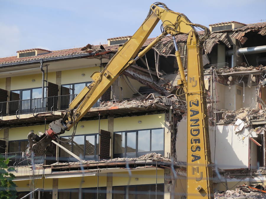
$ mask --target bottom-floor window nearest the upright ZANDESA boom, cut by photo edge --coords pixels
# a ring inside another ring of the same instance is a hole
[[[142,199],[149,198],[157,199],[164,198],[164,185],[157,184],[157,194],[155,184],[152,185],[131,185],[128,189],[128,198],[130,199]],[[126,199],[126,186],[113,187],[113,199]]]

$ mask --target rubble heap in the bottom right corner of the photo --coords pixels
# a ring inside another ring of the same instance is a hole
[[[214,198],[215,199],[222,199],[222,198],[234,198],[234,199],[245,199],[245,198],[266,198],[266,193],[262,193],[259,191],[244,191],[241,190],[241,188],[236,188],[236,190],[227,190],[226,192],[220,193],[220,192],[215,192],[214,193]]]

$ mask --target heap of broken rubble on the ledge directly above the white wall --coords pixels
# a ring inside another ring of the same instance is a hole
[[[223,112],[220,123],[234,123],[237,119],[249,123],[250,120],[264,119],[265,113],[259,108],[241,108],[237,111],[221,110]]]

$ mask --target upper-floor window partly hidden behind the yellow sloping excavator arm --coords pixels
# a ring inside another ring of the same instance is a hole
[[[61,95],[77,95],[85,86],[89,86],[91,82],[73,83],[61,85]],[[69,103],[74,99],[69,98]],[[100,106],[100,99],[93,105],[93,107]]]

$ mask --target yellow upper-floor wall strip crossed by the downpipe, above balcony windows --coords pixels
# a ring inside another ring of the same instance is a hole
[[[46,74],[45,74],[46,77]],[[35,79],[35,82],[32,80]],[[56,83],[56,72],[48,73],[48,82]],[[44,83],[46,85],[46,83]],[[42,87],[42,74],[11,77],[11,90]]]

